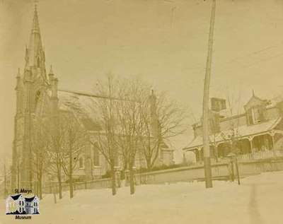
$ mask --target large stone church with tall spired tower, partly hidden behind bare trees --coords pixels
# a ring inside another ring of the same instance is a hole
[[[25,68],[23,72],[20,72],[19,69],[16,75],[16,115],[14,118],[11,189],[33,187],[35,175],[37,175],[35,172],[37,168],[33,163],[34,129],[39,120],[62,113],[76,117],[75,112],[79,110],[80,116],[76,118],[83,131],[90,138],[99,131],[97,125],[99,117],[88,113],[88,105],[93,100],[101,100],[102,97],[71,90],[60,90],[58,83],[52,67],[49,72],[45,68],[45,50],[42,47],[37,6],[35,5],[29,45],[25,47]],[[154,97],[154,93],[152,93],[151,99]],[[74,101],[76,101],[76,108],[70,104]],[[86,140],[83,143],[80,151],[79,158],[74,158],[78,160],[74,177],[80,180],[91,180],[101,178],[108,171],[107,161],[89,141]],[[141,156],[139,153],[137,154],[136,167],[145,165],[144,158]],[[173,150],[165,143],[156,160],[156,165],[163,164],[173,164]],[[43,179],[46,179],[45,174],[43,174]]]

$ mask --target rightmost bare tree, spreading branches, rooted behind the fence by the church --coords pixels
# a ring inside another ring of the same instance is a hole
[[[146,105],[142,112],[141,143],[147,168],[151,170],[165,141],[184,133],[185,110],[168,100],[165,93],[156,96],[153,91]]]

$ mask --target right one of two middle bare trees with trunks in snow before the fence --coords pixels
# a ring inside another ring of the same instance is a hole
[[[118,98],[115,102],[117,114],[117,146],[122,153],[124,170],[129,170],[130,194],[134,194],[134,166],[137,152],[141,148],[143,119],[142,112],[148,91],[139,80],[120,82]]]

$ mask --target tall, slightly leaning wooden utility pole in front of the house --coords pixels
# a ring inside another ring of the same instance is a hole
[[[204,147],[204,178],[205,187],[212,187],[212,167],[210,162],[209,150],[209,85],[210,73],[212,68],[212,47],[215,20],[216,0],[212,0],[212,12],[210,18],[209,41],[207,49],[207,66],[204,78],[204,97],[203,97],[203,147]]]

